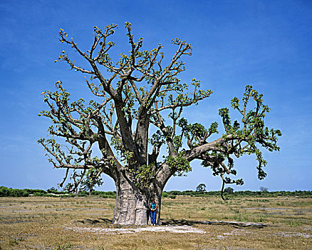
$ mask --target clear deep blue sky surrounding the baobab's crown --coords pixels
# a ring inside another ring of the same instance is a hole
[[[311,190],[312,4],[311,1],[0,1],[0,186],[48,189],[63,170],[48,164],[36,140],[46,135],[49,121],[37,116],[45,109],[42,96],[61,80],[75,98],[85,95],[80,74],[65,63],[55,64],[61,51],[58,30],[68,31],[83,49],[93,41],[93,26],[118,24],[116,52],[128,51],[123,25],[132,24],[144,48],[161,43],[168,57],[179,37],[193,46],[184,58],[182,81],[196,78],[209,99],[184,115],[209,126],[220,121],[217,111],[240,97],[251,84],[264,94],[271,113],[266,122],[281,129],[280,154],[265,153],[268,176],[256,179],[254,156],[236,161],[244,186],[234,190]],[[199,162],[187,177],[170,179],[166,190],[195,189],[204,183],[218,190],[219,177]],[[104,178],[98,190],[114,190]]]

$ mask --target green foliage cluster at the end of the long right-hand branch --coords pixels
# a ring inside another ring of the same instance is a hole
[[[270,109],[269,106],[264,105],[262,97],[263,95],[252,89],[252,86],[247,85],[241,99],[242,106],[237,97],[232,99],[232,108],[239,111],[242,116],[241,123],[239,121],[232,122],[228,108],[219,109],[225,134],[217,143],[216,149],[205,153],[206,159],[202,161],[202,166],[211,167],[214,175],[222,176],[224,184],[244,184],[242,179],[232,179],[229,176],[229,174],[236,175],[233,156],[239,158],[244,154],[254,154],[258,161],[258,166],[256,166],[258,178],[264,179],[266,177],[264,166],[267,161],[262,156],[262,150],[279,151],[279,146],[276,143],[278,136],[281,136],[281,131],[269,130],[264,126],[264,118]],[[248,110],[251,99],[255,106],[254,109]],[[227,161],[227,166],[224,161]],[[226,174],[227,176],[225,176]]]

